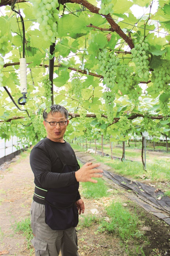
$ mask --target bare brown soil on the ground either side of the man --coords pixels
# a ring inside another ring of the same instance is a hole
[[[76,153],[84,161],[94,161],[92,155],[85,152]],[[150,153],[152,154],[152,153]],[[111,168],[104,165],[105,170]],[[138,214],[140,231],[145,238],[123,242],[115,233],[98,230],[100,223],[96,220],[89,227],[77,226],[80,256],[170,256],[170,226],[154,215],[146,212],[128,198],[125,189],[106,180],[111,190],[109,197],[100,200],[84,199],[86,210],[84,216],[92,215],[91,210],[97,209],[96,219],[105,217],[105,207],[111,201],[122,202],[124,207]],[[153,182],[152,182],[153,183]],[[29,218],[30,205],[34,192],[34,176],[29,164],[29,154],[24,152],[12,162],[1,166],[1,236],[0,255],[30,256],[34,255],[27,249],[27,242],[22,233],[16,232],[16,223]],[[81,193],[81,185],[80,185]],[[84,217],[80,217],[80,223]],[[144,255],[139,248],[143,248]]]

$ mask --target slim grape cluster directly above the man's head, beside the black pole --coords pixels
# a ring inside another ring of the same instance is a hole
[[[46,105],[46,112],[49,113],[51,111],[51,81],[49,80],[48,76],[45,76],[43,79],[43,87],[44,87],[44,96],[45,96],[45,105]]]

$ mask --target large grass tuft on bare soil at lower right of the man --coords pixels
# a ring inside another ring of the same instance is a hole
[[[103,219],[101,222],[101,230],[107,230],[114,233],[123,241],[142,237],[142,233],[138,230],[138,216],[132,214],[128,209],[124,208],[121,203],[112,203],[106,208],[108,220]]]

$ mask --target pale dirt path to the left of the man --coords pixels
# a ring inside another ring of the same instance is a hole
[[[26,158],[18,156],[19,161],[1,170],[1,252],[7,255],[28,255],[25,238],[12,229],[15,222],[29,216],[30,204],[34,188],[34,176]]]

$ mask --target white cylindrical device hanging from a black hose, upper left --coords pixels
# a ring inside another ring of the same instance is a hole
[[[22,97],[18,99],[18,103],[20,105],[25,105],[26,103],[26,94],[27,94],[27,63],[26,58],[20,59],[20,89],[21,93],[23,94]],[[23,102],[21,103],[20,100],[23,99]]]

